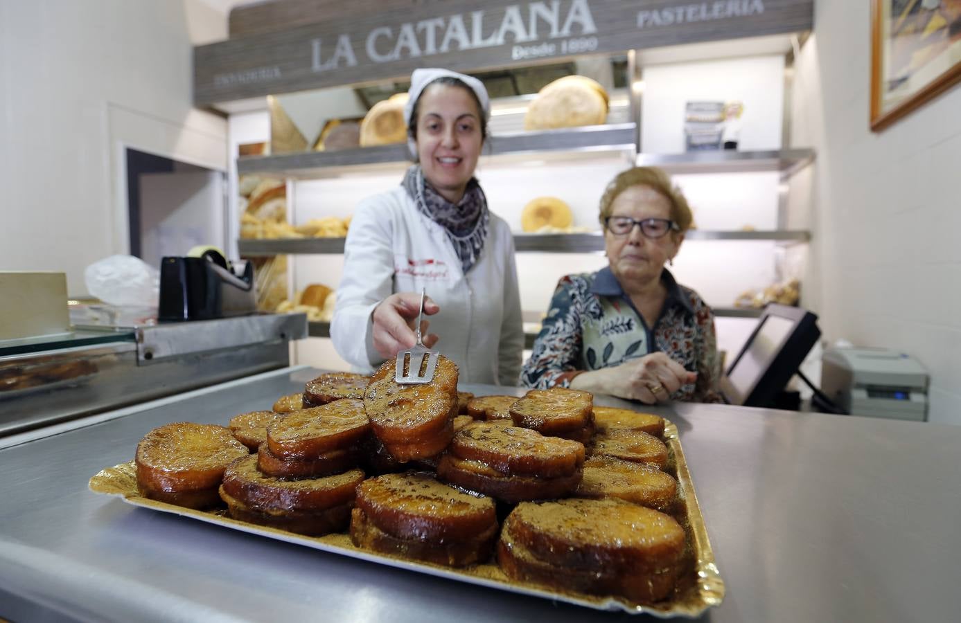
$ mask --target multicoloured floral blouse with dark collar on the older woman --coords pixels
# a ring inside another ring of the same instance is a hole
[[[661,281],[667,299],[649,327],[609,267],[562,277],[521,371],[521,383],[539,389],[568,387],[579,371],[617,366],[660,350],[698,372],[698,380],[681,386],[672,399],[722,402],[710,307],[696,292],[678,285],[666,269]]]

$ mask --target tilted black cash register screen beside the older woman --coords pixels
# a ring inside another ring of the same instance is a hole
[[[770,304],[747,344],[721,379],[731,404],[769,407],[821,337],[817,316],[800,307]]]

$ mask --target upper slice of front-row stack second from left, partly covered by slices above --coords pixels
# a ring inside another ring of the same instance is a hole
[[[257,468],[257,456],[238,459],[224,472],[224,491],[255,511],[316,512],[353,503],[364,478],[359,469],[304,480],[282,480]]]

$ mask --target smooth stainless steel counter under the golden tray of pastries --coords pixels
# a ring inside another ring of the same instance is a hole
[[[225,424],[269,408],[316,373],[267,372],[51,437],[0,440],[0,617],[633,618],[317,552],[87,491],[101,468],[131,460],[151,428]],[[957,619],[961,427],[714,405],[658,411],[678,424],[727,584],[724,604],[706,619]]]

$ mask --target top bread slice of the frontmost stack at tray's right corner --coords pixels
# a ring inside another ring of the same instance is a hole
[[[674,517],[619,499],[518,504],[504,530],[545,563],[585,570],[663,569],[684,550]]]

